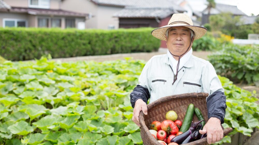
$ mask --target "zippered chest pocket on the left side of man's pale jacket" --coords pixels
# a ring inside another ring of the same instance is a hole
[[[157,96],[164,96],[167,93],[168,78],[166,77],[155,77],[150,78],[150,88],[152,92]]]

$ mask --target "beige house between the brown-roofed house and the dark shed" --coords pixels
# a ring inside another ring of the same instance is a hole
[[[113,14],[125,6],[134,5],[137,0],[62,0],[64,10],[89,13],[88,29],[118,29],[119,19]]]

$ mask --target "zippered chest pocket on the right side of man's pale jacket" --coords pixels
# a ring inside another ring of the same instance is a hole
[[[193,81],[193,80],[181,80],[181,82],[179,83],[179,85],[181,85],[180,90],[182,90],[183,92],[179,92],[179,93],[199,93],[199,92],[203,92],[203,86],[202,86],[202,82],[199,81]]]

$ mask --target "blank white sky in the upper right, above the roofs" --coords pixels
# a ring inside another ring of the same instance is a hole
[[[206,8],[206,0],[187,0],[195,11],[202,11]],[[215,0],[216,3],[235,5],[239,10],[250,16],[259,14],[259,0]]]

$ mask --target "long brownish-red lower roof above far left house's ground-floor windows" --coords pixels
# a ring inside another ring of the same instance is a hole
[[[85,17],[88,14],[76,13],[64,10],[44,9],[44,8],[24,8],[24,7],[11,7],[9,12],[28,13],[32,15],[55,15],[55,16],[79,16]]]

